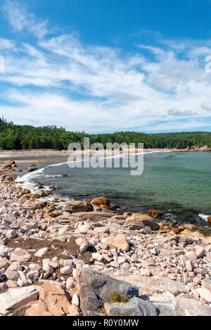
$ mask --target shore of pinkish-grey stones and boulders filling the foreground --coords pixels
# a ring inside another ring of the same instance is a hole
[[[203,229],[120,214],[105,197],[62,208],[53,186],[50,200],[15,184],[15,167],[0,168],[0,315],[211,315]]]

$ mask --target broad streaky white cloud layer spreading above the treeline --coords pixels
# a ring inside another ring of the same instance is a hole
[[[197,119],[209,118],[211,109],[210,99],[205,102],[211,88],[211,74],[205,72],[210,40],[160,39],[157,46],[125,53],[83,44],[72,34],[48,37],[46,22],[20,10],[17,2],[6,5],[13,28],[38,37],[27,43],[0,39],[0,82],[10,86],[1,93],[0,113],[8,120],[87,132],[147,130],[152,122],[154,130],[205,126]]]

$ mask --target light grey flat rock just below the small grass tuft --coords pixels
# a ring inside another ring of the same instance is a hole
[[[108,316],[158,316],[159,310],[152,303],[134,297],[127,303],[105,303]]]

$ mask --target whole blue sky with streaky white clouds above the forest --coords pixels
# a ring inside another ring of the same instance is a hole
[[[211,130],[210,0],[1,0],[0,114],[86,132]]]

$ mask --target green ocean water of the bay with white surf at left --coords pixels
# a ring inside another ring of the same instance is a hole
[[[21,179],[31,189],[37,182],[53,184],[56,195],[67,199],[106,196],[120,210],[155,208],[164,211],[167,220],[181,223],[204,225],[207,215],[211,215],[211,153],[146,153],[143,174],[139,176],[130,175],[131,169],[122,167],[70,168],[66,161],[58,158],[56,164],[40,164],[37,172]],[[68,177],[61,177],[62,173]]]

